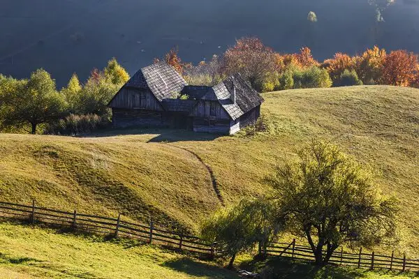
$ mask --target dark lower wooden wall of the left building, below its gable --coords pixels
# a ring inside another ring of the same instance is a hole
[[[170,121],[165,112],[112,108],[112,125],[115,128],[125,128],[129,126],[168,127],[170,126]]]

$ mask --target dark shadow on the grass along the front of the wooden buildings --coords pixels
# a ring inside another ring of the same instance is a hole
[[[118,135],[157,135],[149,142],[185,142],[185,141],[211,141],[221,135],[210,133],[194,133],[191,130],[170,128],[113,128],[101,130],[96,133],[78,135],[78,137],[115,137]]]

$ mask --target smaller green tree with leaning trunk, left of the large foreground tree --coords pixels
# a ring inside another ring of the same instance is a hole
[[[261,252],[277,235],[273,212],[267,199],[243,199],[230,209],[221,209],[205,220],[201,236],[221,247],[224,255],[230,257],[228,267],[232,268],[237,253],[252,250],[256,243]]]

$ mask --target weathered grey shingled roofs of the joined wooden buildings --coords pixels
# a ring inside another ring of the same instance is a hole
[[[138,70],[124,86],[149,89],[169,112],[189,112],[198,100],[218,100],[233,120],[263,103],[259,93],[239,74],[216,86],[191,86],[165,61]],[[179,92],[188,95],[189,100],[171,99],[173,93]]]

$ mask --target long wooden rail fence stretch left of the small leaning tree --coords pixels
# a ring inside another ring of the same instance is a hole
[[[215,255],[215,243],[204,243],[198,237],[188,234],[168,232],[154,226],[152,221],[149,225],[127,222],[122,220],[120,214],[118,218],[109,218],[82,214],[77,211],[47,209],[36,206],[35,202],[31,205],[0,202],[0,216],[29,220],[32,224],[45,223],[115,237],[139,239],[146,243],[170,246],[179,250],[205,254],[209,257]]]

